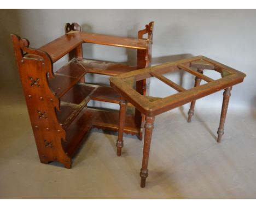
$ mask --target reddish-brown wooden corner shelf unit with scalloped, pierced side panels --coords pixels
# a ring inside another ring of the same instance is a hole
[[[38,49],[30,48],[28,40],[18,35],[11,38],[40,162],[58,161],[71,168],[73,155],[92,127],[118,131],[119,111],[87,104],[90,100],[119,103],[119,94],[110,86],[86,83],[85,75],[113,76],[150,66],[153,22],[139,30],[138,39],[84,33],[77,23],[67,23],[65,32]],[[84,59],[82,44],[86,42],[136,49],[137,66]],[[68,63],[53,72],[53,63],[66,54]],[[135,88],[148,96],[146,79]],[[142,138],[143,115],[136,110],[126,114],[124,132]]]

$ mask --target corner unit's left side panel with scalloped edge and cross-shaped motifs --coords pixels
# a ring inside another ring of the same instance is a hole
[[[25,39],[11,35],[21,83],[27,103],[40,161],[59,161],[71,168],[71,157],[62,149],[66,132],[56,117],[60,111],[60,100],[48,85],[48,76],[53,78],[53,64],[47,53],[29,48]],[[37,56],[24,57],[24,53]]]

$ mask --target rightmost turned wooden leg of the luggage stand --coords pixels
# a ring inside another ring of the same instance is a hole
[[[231,89],[232,87],[226,88],[223,93],[222,114],[220,115],[219,129],[217,131],[218,133],[217,142],[220,142],[220,140],[222,140],[222,136],[224,134],[224,124],[226,119],[226,112],[228,111],[229,97],[231,96],[231,93],[230,93]]]

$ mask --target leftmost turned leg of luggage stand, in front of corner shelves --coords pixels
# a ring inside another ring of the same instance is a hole
[[[120,111],[119,111],[119,129],[118,129],[118,140],[117,140],[117,156],[121,156],[122,148],[124,146],[123,134],[124,134],[124,125],[125,125],[125,115],[126,115],[126,106],[127,101],[121,98],[120,102]]]

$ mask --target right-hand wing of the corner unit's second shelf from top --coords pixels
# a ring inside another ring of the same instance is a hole
[[[136,67],[125,64],[104,62],[100,60],[83,59],[83,61],[79,63],[84,66],[88,73],[108,76],[119,75],[137,69]]]

